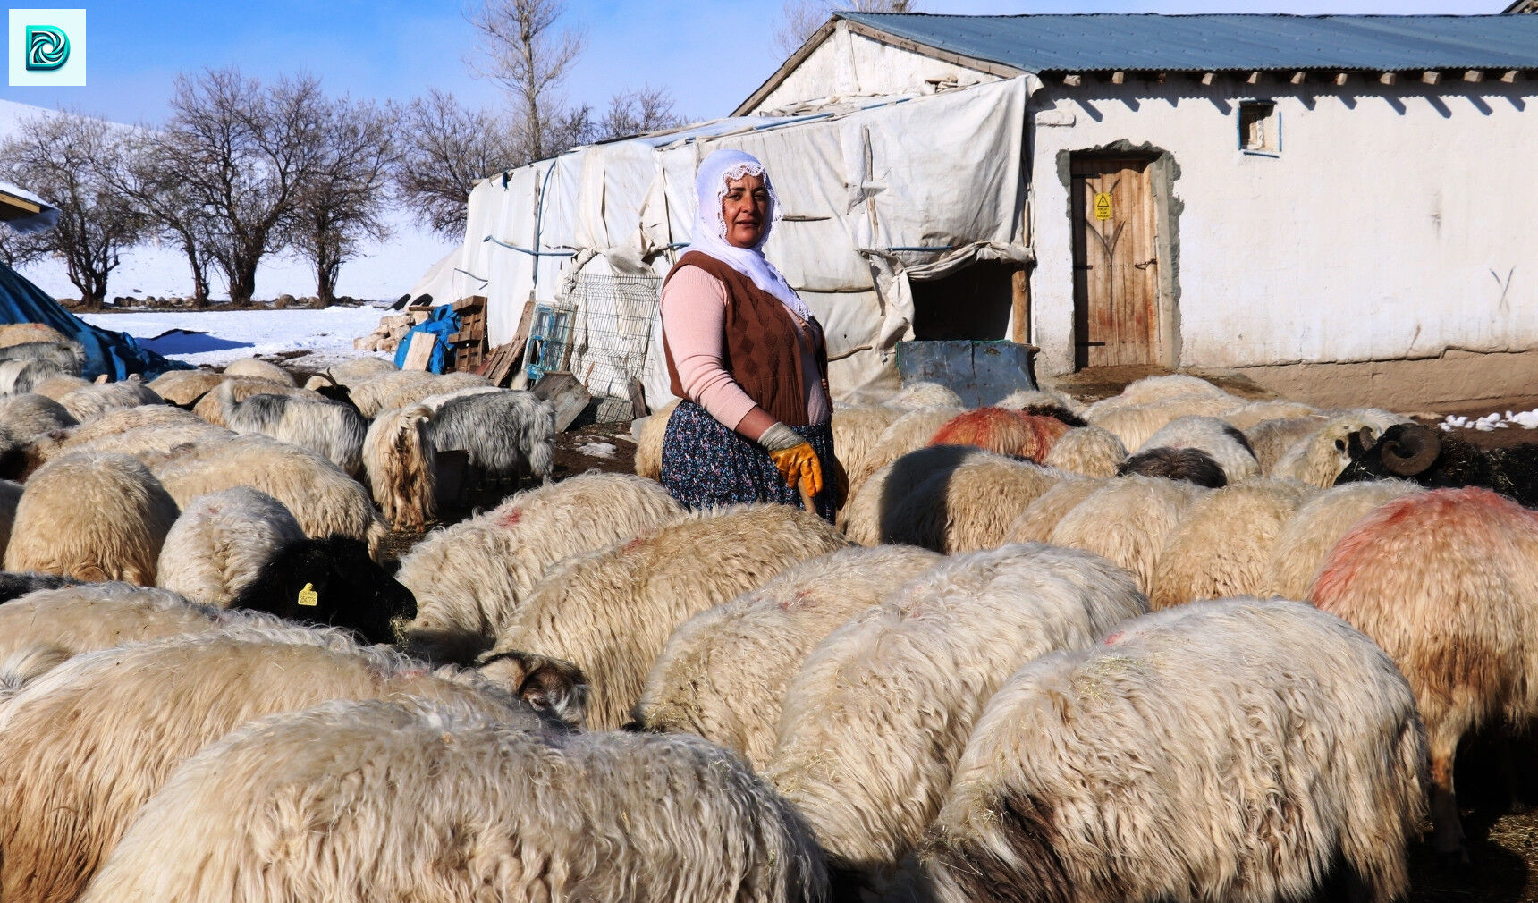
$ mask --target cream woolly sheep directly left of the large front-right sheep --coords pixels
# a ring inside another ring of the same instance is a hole
[[[1030,543],[950,558],[807,655],[764,777],[832,869],[880,885],[940,811],[994,691],[1146,611],[1130,574],[1098,555]]]

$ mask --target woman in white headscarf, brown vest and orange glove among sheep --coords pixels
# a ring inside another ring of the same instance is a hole
[[[832,520],[827,346],[784,275],[763,255],[778,200],[763,163],[717,151],[695,177],[694,242],[663,283],[663,354],[672,394],[663,486],[687,508],[797,505]]]

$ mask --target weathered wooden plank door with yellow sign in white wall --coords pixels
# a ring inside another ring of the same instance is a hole
[[[1074,157],[1075,366],[1158,363],[1158,234],[1149,160]]]

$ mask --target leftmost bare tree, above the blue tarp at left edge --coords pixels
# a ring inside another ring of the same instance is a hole
[[[118,254],[145,235],[145,217],[100,177],[103,163],[123,155],[118,129],[106,120],[52,114],[23,120],[18,137],[0,145],[0,172],[58,208],[52,229],[32,242],[9,242],[9,254],[45,252],[65,262],[69,282],[86,308],[106,298],[108,275]]]

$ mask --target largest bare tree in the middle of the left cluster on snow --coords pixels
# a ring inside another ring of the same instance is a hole
[[[300,194],[321,160],[326,105],[312,77],[263,88],[237,69],[178,75],[158,146],[163,165],[208,214],[205,251],[249,302],[257,265],[281,246]]]

